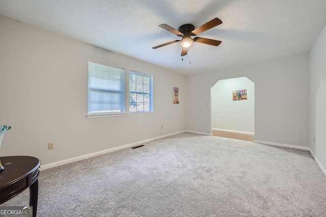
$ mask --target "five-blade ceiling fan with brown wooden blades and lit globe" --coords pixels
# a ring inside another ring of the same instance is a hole
[[[207,23],[199,26],[196,29],[195,29],[195,26],[192,24],[181,25],[178,30],[175,28],[172,28],[171,26],[169,26],[167,24],[158,25],[159,27],[164,28],[165,30],[168,30],[169,32],[173,33],[174,35],[182,37],[182,39],[171,41],[171,42],[161,44],[161,45],[157,45],[152,48],[156,49],[156,48],[163,47],[163,46],[166,46],[169,44],[180,42],[180,44],[182,46],[181,56],[184,56],[184,55],[187,55],[188,47],[190,47],[194,42],[199,42],[202,44],[209,44],[209,45],[213,45],[213,46],[219,46],[222,43],[222,41],[206,39],[206,38],[201,38],[201,37],[196,37],[193,39],[193,38],[191,38],[191,36],[197,36],[205,31],[207,31],[208,29],[211,29],[212,27],[215,27],[216,25],[220,25],[220,24],[222,24],[222,21],[219,18],[214,18],[214,19],[208,21]]]

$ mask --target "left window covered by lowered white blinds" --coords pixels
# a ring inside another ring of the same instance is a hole
[[[88,61],[88,113],[124,112],[124,69]]]

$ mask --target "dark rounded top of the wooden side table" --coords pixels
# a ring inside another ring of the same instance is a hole
[[[0,161],[5,168],[0,171],[0,189],[29,176],[41,165],[39,159],[30,156],[1,157]]]

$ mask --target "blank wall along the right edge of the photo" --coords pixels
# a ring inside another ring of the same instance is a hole
[[[309,145],[326,175],[326,24],[310,51]],[[315,137],[315,141],[313,141]]]

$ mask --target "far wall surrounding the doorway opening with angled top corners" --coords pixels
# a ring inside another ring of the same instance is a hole
[[[244,76],[255,83],[255,140],[308,147],[309,53],[187,76],[186,129],[210,133],[210,88]]]

